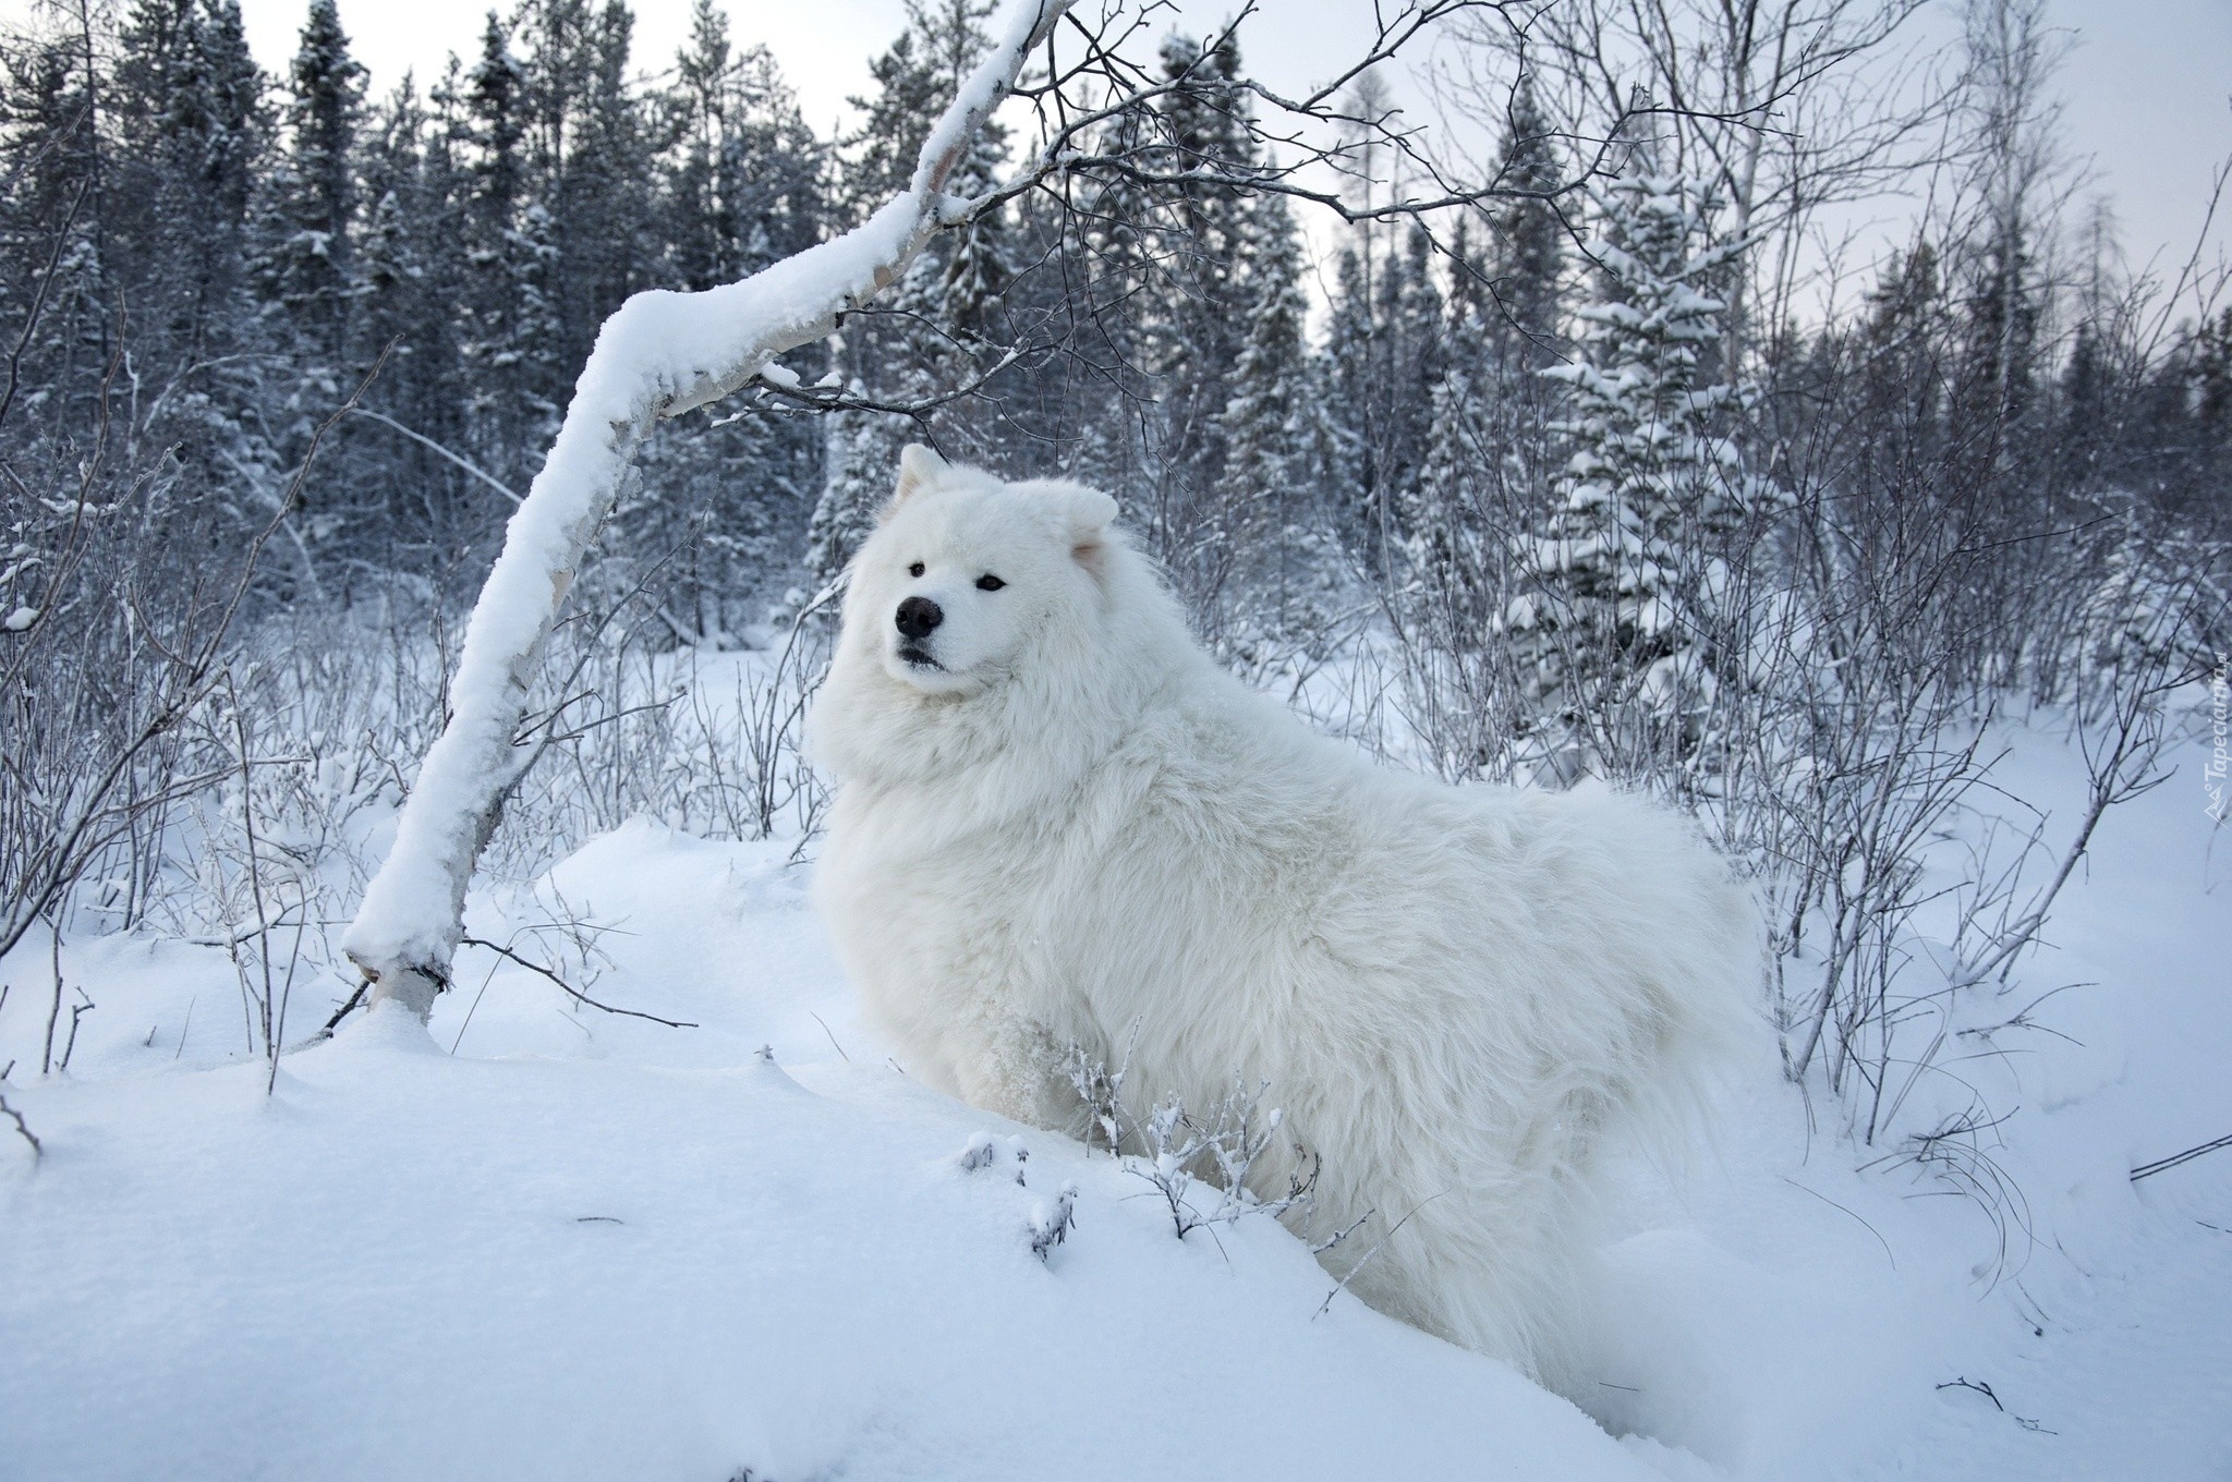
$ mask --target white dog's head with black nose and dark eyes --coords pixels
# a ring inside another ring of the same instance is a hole
[[[922,694],[998,685],[1047,634],[1091,620],[1114,518],[1096,489],[1011,484],[908,444],[853,560],[846,647]]]

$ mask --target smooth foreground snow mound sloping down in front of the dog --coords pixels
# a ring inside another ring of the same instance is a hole
[[[20,1478],[1649,1475],[1105,1156],[888,1067],[444,1056],[56,1085],[0,1183]],[[1027,1178],[964,1167],[1020,1134]],[[1076,1183],[1076,1228],[1033,1221]]]

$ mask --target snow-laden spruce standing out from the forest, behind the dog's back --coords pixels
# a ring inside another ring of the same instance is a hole
[[[1598,301],[1576,310],[1587,357],[1569,386],[1569,446],[1545,527],[1520,536],[1502,632],[1558,774],[1690,754],[1716,683],[1725,538],[1761,500],[1725,422],[1745,395],[1699,384],[1723,301],[1701,290],[1741,252],[1712,241],[1707,190],[1634,174],[1598,196]]]

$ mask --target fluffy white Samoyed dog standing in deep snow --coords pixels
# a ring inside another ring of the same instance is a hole
[[[1083,1127],[1270,1082],[1326,1252],[1384,1312],[1571,1384],[1598,1145],[1678,1105],[1757,989],[1748,895],[1612,790],[1368,763],[1190,638],[1067,482],[922,446],[853,562],[812,723],[815,899],[902,1067]],[[1368,1216],[1368,1219],[1366,1219]]]

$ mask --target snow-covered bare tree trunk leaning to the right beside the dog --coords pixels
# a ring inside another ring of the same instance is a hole
[[[420,766],[379,875],[344,951],[371,982],[426,1018],[464,935],[464,888],[533,750],[520,743],[527,687],[567,585],[661,417],[750,384],[783,350],[828,335],[897,279],[960,203],[946,176],[1074,0],[1016,0],[1002,42],[946,107],[906,192],[859,228],[705,292],[638,292],[596,337],[565,424],[464,629],[453,712]]]

